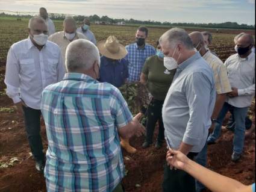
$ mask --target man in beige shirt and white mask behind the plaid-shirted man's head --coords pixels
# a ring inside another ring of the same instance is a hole
[[[54,33],[49,37],[49,41],[56,43],[61,49],[61,55],[64,61],[63,66],[65,63],[67,45],[76,39],[87,40],[87,37],[84,36],[84,34],[76,32],[76,21],[73,17],[66,17],[63,22],[63,31]]]

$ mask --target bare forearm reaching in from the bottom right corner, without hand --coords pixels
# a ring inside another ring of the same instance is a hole
[[[184,166],[184,171],[192,175],[193,178],[200,181],[213,192],[246,192],[246,189],[249,188],[234,179],[206,169],[190,159],[186,166]]]

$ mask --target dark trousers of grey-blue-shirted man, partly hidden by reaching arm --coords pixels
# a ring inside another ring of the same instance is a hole
[[[198,153],[190,152],[187,157],[193,159]],[[195,179],[183,170],[170,170],[164,166],[163,192],[195,192]]]

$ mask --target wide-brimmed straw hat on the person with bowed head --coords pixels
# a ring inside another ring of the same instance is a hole
[[[99,42],[97,47],[101,55],[113,60],[119,60],[127,54],[125,46],[121,45],[114,36],[109,36],[106,41]]]

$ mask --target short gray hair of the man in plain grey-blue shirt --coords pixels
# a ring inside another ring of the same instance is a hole
[[[183,44],[187,49],[194,48],[189,35],[181,28],[172,28],[166,31],[159,39],[160,45],[163,45],[164,42],[167,42],[170,48],[174,48],[178,43]]]

